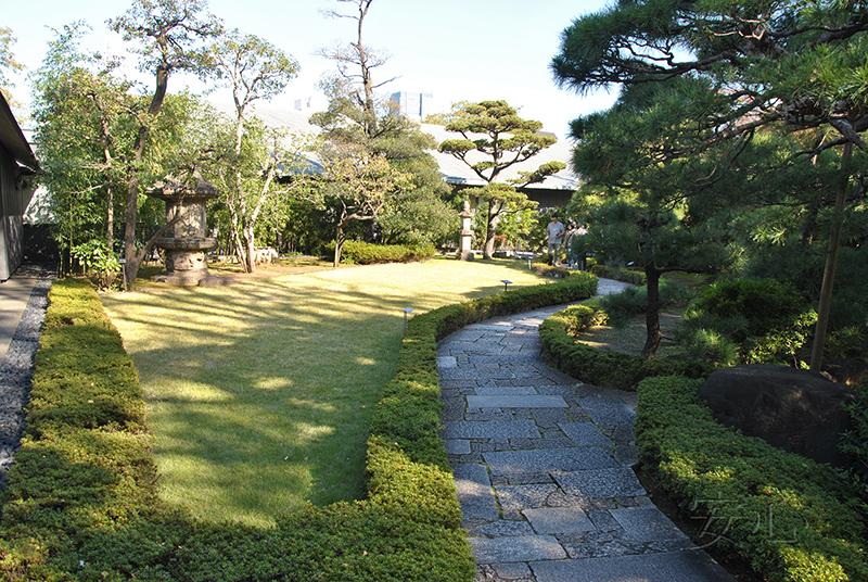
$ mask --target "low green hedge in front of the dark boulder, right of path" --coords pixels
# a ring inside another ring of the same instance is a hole
[[[705,542],[737,552],[769,582],[868,580],[853,492],[828,466],[716,422],[695,395],[701,385],[643,380],[636,438],[641,463],[705,519]]]

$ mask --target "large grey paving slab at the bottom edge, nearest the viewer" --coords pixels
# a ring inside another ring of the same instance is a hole
[[[531,564],[537,582],[735,582],[704,552],[669,552],[539,561]]]

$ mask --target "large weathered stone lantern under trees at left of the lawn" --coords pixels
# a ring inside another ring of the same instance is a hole
[[[152,281],[179,286],[229,282],[208,273],[206,255],[217,245],[217,239],[206,236],[205,203],[218,194],[199,172],[193,173],[192,185],[169,176],[148,192],[166,202],[167,223],[180,213],[178,222],[156,240],[156,246],[166,252],[166,273],[155,275]]]

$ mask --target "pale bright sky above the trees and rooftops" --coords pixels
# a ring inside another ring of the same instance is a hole
[[[542,122],[544,129],[560,139],[569,123],[580,115],[608,109],[616,94],[601,91],[579,96],[559,89],[549,63],[560,47],[560,35],[573,20],[599,11],[612,0],[374,0],[365,20],[366,46],[391,56],[373,71],[374,83],[395,77],[379,89],[430,92],[434,112],[446,112],[457,101],[503,99],[526,119]],[[26,74],[37,69],[54,29],[75,21],[87,22],[92,31],[87,46],[119,52],[124,42],[105,21],[126,12],[127,2],[91,0],[35,0],[28,10],[5,11],[0,26],[12,29],[17,41],[14,58],[25,65],[24,75],[12,76],[13,97],[29,98]],[[286,91],[272,100],[275,106],[294,109],[296,100],[311,101],[311,113],[326,106],[317,88],[334,64],[316,54],[321,48],[355,38],[356,22],[328,18],[324,10],[350,13],[353,4],[335,0],[210,0],[210,12],[227,28],[253,34],[292,55],[301,73]],[[142,77],[151,81],[151,77]],[[173,76],[169,91],[201,84],[189,76]],[[151,87],[149,87],[150,89]],[[209,99],[229,102],[227,92]]]

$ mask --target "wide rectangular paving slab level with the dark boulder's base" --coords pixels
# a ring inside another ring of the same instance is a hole
[[[492,475],[583,471],[617,467],[612,457],[596,446],[501,451],[483,453],[483,459],[488,465]],[[634,479],[636,479],[635,476]]]

